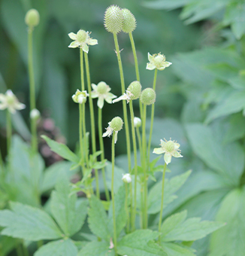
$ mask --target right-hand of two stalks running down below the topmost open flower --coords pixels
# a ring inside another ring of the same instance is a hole
[[[96,152],[96,141],[95,141],[95,114],[94,107],[92,105],[92,96],[91,96],[91,79],[89,72],[89,57],[88,53],[84,53],[85,66],[86,66],[86,81],[89,91],[89,111],[90,111],[90,125],[92,133],[92,154]],[[99,186],[98,186],[98,169],[95,169],[95,184],[96,184],[96,197],[99,198]]]

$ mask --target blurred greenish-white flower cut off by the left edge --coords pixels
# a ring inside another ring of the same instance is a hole
[[[0,93],[0,110],[4,110],[6,108],[14,114],[17,110],[26,108],[26,105],[20,103],[11,90],[7,90],[5,94]]]

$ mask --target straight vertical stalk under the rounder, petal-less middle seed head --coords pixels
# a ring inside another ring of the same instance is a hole
[[[143,118],[142,118],[142,154],[143,162],[142,167],[144,170],[144,228],[147,228],[147,140],[146,140],[146,119],[147,119],[147,105],[143,105]]]

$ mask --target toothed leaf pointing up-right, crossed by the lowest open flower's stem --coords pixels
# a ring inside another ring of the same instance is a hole
[[[171,203],[177,198],[174,193],[183,186],[187,178],[191,174],[191,171],[185,172],[182,175],[177,175],[171,180],[165,179],[165,199],[163,207],[165,208],[168,203]],[[155,214],[161,210],[161,200],[162,196],[160,191],[162,191],[162,181],[157,182],[150,190],[148,197],[148,213]]]

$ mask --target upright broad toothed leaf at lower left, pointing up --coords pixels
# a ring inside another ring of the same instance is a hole
[[[66,236],[80,230],[86,218],[87,201],[77,202],[77,195],[70,196],[68,177],[63,173],[51,194],[51,212]]]

